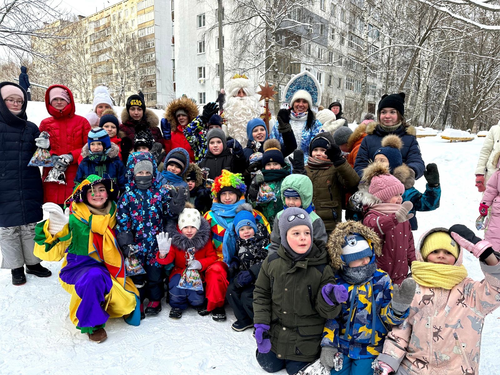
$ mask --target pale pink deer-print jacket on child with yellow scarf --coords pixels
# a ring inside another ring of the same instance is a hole
[[[423,239],[436,230],[447,231],[435,228],[424,233],[417,261],[423,261]],[[462,263],[464,251],[460,250],[455,265]],[[396,375],[477,375],[484,316],[500,306],[500,263],[480,264],[481,281],[465,277],[451,290],[417,284],[408,317],[392,327],[377,359]]]

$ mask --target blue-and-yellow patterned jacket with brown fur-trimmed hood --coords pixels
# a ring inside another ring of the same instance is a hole
[[[349,233],[360,233],[368,240],[373,248],[370,263],[374,262],[375,253],[380,251],[377,235],[360,222],[346,221],[339,223],[328,239],[332,267],[339,269],[347,266],[339,254],[344,236]],[[351,359],[376,357],[382,351],[389,326],[401,324],[408,316],[408,310],[400,316],[392,310],[392,282],[381,269],[376,269],[369,279],[360,284],[345,281],[338,271],[335,281],[345,286],[348,298],[341,303],[342,310],[338,316],[326,320],[321,346],[335,346]]]

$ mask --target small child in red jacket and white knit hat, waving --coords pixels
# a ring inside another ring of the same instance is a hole
[[[210,225],[189,202],[180,212],[177,223],[169,222],[166,230],[166,233],[156,235],[158,241],[156,260],[160,264],[173,263],[168,281],[171,306],[168,316],[178,319],[182,316],[187,303],[196,307],[198,311],[206,309],[206,304],[203,303],[205,299],[203,288],[195,290],[179,287],[182,272],[186,268],[197,269],[201,279],[204,279],[204,271],[217,260],[217,254],[210,237]]]

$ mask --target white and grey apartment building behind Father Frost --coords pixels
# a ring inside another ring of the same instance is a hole
[[[368,65],[368,76],[365,105],[360,112],[375,110],[383,85],[376,65],[379,33],[375,7],[367,3],[364,8],[368,8],[368,12],[363,13],[362,1],[340,3],[319,0],[307,8],[294,9],[290,18],[295,19],[297,25],[289,30],[283,27],[274,35],[278,44],[296,46],[294,50],[288,49],[278,56],[278,70],[282,77],[278,84],[279,98],[290,74],[307,69],[322,86],[323,106],[338,100],[344,106],[344,113],[353,114],[359,109],[364,61]],[[235,5],[234,1],[223,0],[223,17],[225,14],[230,18]],[[224,25],[222,43],[219,43],[216,30],[217,0],[173,0],[170,6],[173,22],[172,79],[177,96],[186,94],[195,98],[198,104],[215,100],[220,89],[220,44],[224,51],[225,83],[241,71],[253,79],[256,85],[266,79],[273,81],[270,73],[262,73],[265,68],[257,59],[242,61],[234,56],[236,44],[244,42],[236,39],[236,26]],[[364,27],[365,24],[367,27]],[[260,44],[263,49],[269,45],[269,37],[267,32],[267,40],[262,36],[260,40],[251,40],[249,43],[256,43],[257,47]],[[364,43],[365,39],[367,43]],[[363,60],[366,54],[370,54],[370,58]],[[257,64],[259,66],[255,66]],[[267,61],[265,64],[268,67]]]

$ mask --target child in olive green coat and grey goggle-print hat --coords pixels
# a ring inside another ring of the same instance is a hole
[[[326,248],[312,243],[307,212],[289,207],[279,220],[281,245],[263,261],[253,291],[257,362],[267,372],[294,374],[317,358],[325,319],[340,305],[331,295],[346,294],[333,285]],[[321,293],[328,286],[331,294]]]

